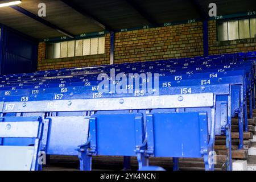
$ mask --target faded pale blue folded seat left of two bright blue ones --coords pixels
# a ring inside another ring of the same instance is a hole
[[[76,148],[88,139],[89,119],[85,117],[48,117],[48,141],[46,153],[49,155],[77,155]]]

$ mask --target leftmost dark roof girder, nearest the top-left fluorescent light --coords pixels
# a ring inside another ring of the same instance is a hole
[[[72,35],[68,31],[65,31],[62,28],[57,27],[55,24],[52,24],[52,23],[48,22],[47,20],[45,20],[43,18],[40,18],[39,16],[37,16],[35,14],[32,14],[30,11],[27,11],[27,10],[23,9],[20,6],[10,6],[10,7],[12,9],[16,10],[16,11],[19,11],[20,13],[22,13],[26,16],[29,16],[32,19],[35,19],[36,21],[38,21],[38,22],[40,22],[40,23],[42,23],[42,24],[44,24],[44,25],[46,25],[50,28],[55,29],[56,31],[60,32],[61,34],[64,34],[64,35],[68,36],[69,38],[75,38],[75,35]]]

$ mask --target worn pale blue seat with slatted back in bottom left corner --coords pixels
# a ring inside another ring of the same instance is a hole
[[[42,118],[0,118],[0,170],[38,170],[42,129]]]

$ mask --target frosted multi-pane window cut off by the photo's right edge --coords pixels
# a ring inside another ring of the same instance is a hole
[[[219,41],[256,38],[256,18],[221,22],[217,28]]]

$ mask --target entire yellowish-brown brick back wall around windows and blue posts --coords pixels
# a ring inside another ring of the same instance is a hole
[[[216,21],[209,21],[209,54],[256,51],[256,39],[217,42]],[[115,34],[114,63],[154,61],[203,55],[203,23],[187,23]],[[90,67],[109,64],[110,34],[105,53],[46,60],[46,44],[39,43],[38,70]]]

